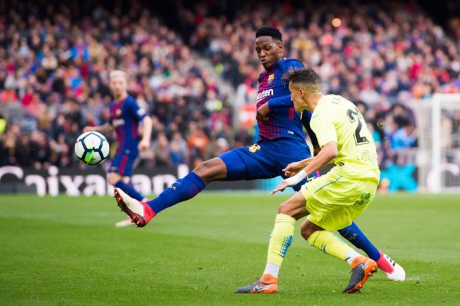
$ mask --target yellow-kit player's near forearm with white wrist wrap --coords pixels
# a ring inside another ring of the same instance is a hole
[[[296,186],[300,183],[303,179],[306,179],[312,173],[316,173],[316,171],[320,170],[320,168],[326,166],[333,162],[334,158],[337,156],[337,142],[331,141],[322,146],[320,153],[318,156],[312,157],[307,162],[307,166],[303,168],[299,173],[294,175],[294,177],[290,177],[289,179],[283,180],[277,188],[274,188],[271,194],[274,194],[277,191],[283,191],[286,187],[289,186]],[[305,161],[305,160],[304,160]]]

